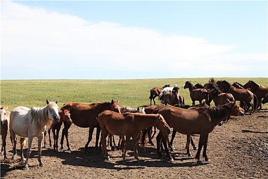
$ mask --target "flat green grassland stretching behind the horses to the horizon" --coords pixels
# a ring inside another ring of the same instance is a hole
[[[241,84],[253,80],[268,86],[267,78],[215,78],[227,80],[231,84]],[[120,106],[138,107],[150,104],[150,89],[165,84],[179,84],[180,95],[185,103],[191,105],[189,90],[183,86],[186,81],[205,84],[209,78],[166,78],[166,79],[131,79],[131,80],[1,80],[1,105],[8,106],[11,111],[17,106],[41,107],[45,100],[56,101],[59,107],[67,102],[94,103],[119,100]],[[155,98],[156,104],[160,104]],[[198,102],[196,101],[196,104]],[[214,103],[211,103],[212,106]],[[264,108],[268,107],[266,103]]]

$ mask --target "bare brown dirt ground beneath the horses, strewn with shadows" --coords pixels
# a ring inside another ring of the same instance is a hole
[[[61,137],[61,134],[60,134]],[[197,150],[191,148],[188,157],[184,149],[186,136],[177,133],[172,152],[174,162],[158,159],[156,147],[148,144],[146,151],[138,147],[138,163],[133,147],[127,152],[127,164],[121,162],[121,152],[110,151],[110,161],[105,161],[100,150],[95,149],[95,140],[89,144],[88,153],[83,153],[88,138],[88,128],[71,125],[67,148],[54,152],[53,147],[42,149],[43,167],[38,166],[37,139],[34,139],[29,159],[29,169],[22,170],[23,163],[12,161],[12,145],[7,138],[8,160],[1,155],[1,178],[267,178],[268,176],[268,109],[243,117],[232,117],[222,126],[216,126],[209,134],[207,154],[210,162],[197,164]],[[171,135],[170,135],[171,138]],[[118,142],[118,138],[115,138]],[[46,136],[48,141],[48,136]],[[156,139],[154,138],[153,141]],[[199,137],[193,137],[198,145]],[[64,141],[66,144],[66,142]],[[43,144],[42,144],[43,145]],[[17,149],[19,147],[17,146]],[[203,151],[203,150],[202,150]],[[201,152],[202,152],[201,151]],[[18,150],[19,153],[19,150]],[[24,151],[26,154],[26,150]],[[2,153],[3,154],[3,153]],[[202,154],[202,153],[201,153]],[[26,156],[26,155],[25,155]],[[202,160],[204,160],[202,158]]]

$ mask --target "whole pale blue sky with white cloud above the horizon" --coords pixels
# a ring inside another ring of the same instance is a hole
[[[1,79],[268,77],[267,1],[1,1]]]

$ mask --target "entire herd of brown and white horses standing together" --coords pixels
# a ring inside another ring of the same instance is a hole
[[[213,78],[205,85],[193,85],[190,81],[186,81],[184,89],[188,88],[192,105],[184,103],[184,97],[179,94],[179,86],[165,85],[162,88],[154,87],[151,89],[150,99],[151,104],[143,106],[141,109],[132,109],[130,107],[120,107],[118,101],[100,102],[92,104],[82,104],[76,102],[65,103],[59,109],[56,102],[49,102],[46,100],[44,107],[23,107],[14,108],[11,113],[7,107],[1,106],[1,135],[3,139],[2,150],[4,150],[4,159],[6,156],[6,137],[8,127],[10,130],[10,139],[12,142],[13,156],[16,159],[16,135],[20,138],[20,159],[25,161],[23,169],[28,169],[28,160],[31,154],[31,145],[34,137],[38,138],[38,161],[39,166],[43,166],[41,161],[41,143],[45,133],[48,131],[50,146],[52,146],[50,131],[53,131],[54,151],[59,151],[58,138],[59,131],[62,124],[61,149],[63,146],[64,137],[66,138],[66,145],[68,150],[71,150],[68,141],[68,129],[72,123],[79,127],[89,128],[88,141],[85,144],[84,152],[87,152],[88,145],[92,140],[93,130],[96,128],[96,143],[95,147],[101,147],[105,159],[109,159],[107,152],[106,138],[109,136],[109,143],[112,146],[113,135],[119,136],[121,142],[118,143],[118,149],[121,148],[123,152],[123,163],[126,163],[126,152],[129,146],[130,138],[133,140],[134,157],[137,161],[137,144],[145,145],[146,136],[148,134],[149,142],[153,144],[152,128],[159,129],[156,137],[157,154],[162,157],[161,146],[165,149],[167,159],[174,161],[169,153],[170,150],[175,149],[173,140],[176,132],[187,136],[186,150],[187,154],[191,156],[189,144],[194,145],[191,135],[199,134],[199,145],[196,154],[197,162],[202,164],[200,160],[200,153],[203,149],[203,157],[205,161],[209,161],[206,153],[208,135],[213,131],[216,125],[222,124],[223,121],[228,120],[230,116],[243,116],[251,107],[254,112],[257,108],[261,109],[262,103],[268,101],[268,87],[258,85],[253,81],[249,81],[245,85],[240,85],[241,88],[235,87],[236,84],[230,84],[227,81],[216,81]],[[162,105],[155,104],[155,98],[159,97]],[[252,99],[254,102],[252,103]],[[154,105],[152,105],[152,100]],[[202,103],[205,100],[205,103]],[[214,101],[215,107],[210,107],[210,102]],[[195,101],[200,104],[196,105]],[[240,106],[235,101],[240,101]],[[169,105],[167,105],[169,104]],[[172,139],[169,141],[168,135],[173,128]],[[156,129],[155,129],[156,132]],[[99,138],[101,134],[101,140]],[[28,138],[27,158],[23,156],[23,147],[26,145]],[[114,139],[113,143],[115,145]]]

